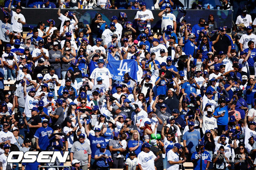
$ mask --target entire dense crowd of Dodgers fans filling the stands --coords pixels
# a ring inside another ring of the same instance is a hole
[[[121,12],[109,26],[101,13],[84,26],[75,13],[61,13],[61,2],[60,27],[45,18],[25,35],[15,3],[0,21],[0,170],[19,168],[7,162],[10,151],[46,150],[69,152],[76,170],[179,170],[185,162],[195,170],[254,169],[256,19],[246,8],[230,37],[213,15],[194,26],[184,10],[176,18],[171,0],[159,2],[158,16],[151,4],[123,4],[138,9],[134,21]],[[4,80],[15,80],[16,90],[6,93]],[[22,163],[22,170],[41,165],[63,163]]]

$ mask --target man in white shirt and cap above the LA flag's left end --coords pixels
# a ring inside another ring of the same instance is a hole
[[[108,29],[105,29],[102,33],[102,36],[101,36],[101,39],[103,40],[103,44],[104,44],[104,48],[106,49],[107,46],[108,46],[108,43],[111,42],[112,40],[112,37],[115,35],[115,37],[117,39],[120,39],[118,38],[118,32],[116,30],[116,27],[115,27],[115,22],[111,22],[109,24],[109,28]],[[114,37],[113,37],[114,38]]]

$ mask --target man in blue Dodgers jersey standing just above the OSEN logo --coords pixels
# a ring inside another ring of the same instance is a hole
[[[35,131],[35,143],[38,150],[44,151],[50,144],[50,135],[53,133],[52,128],[48,126],[48,119],[43,119],[42,127]]]

